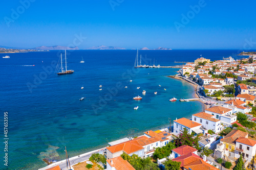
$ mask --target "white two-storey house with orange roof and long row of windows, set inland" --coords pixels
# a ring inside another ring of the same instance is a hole
[[[192,120],[201,124],[205,129],[218,133],[222,130],[221,120],[214,118],[214,115],[200,112],[192,115]]]

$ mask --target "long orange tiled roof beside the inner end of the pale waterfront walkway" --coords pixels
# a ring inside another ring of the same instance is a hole
[[[119,151],[123,151],[129,155],[136,151],[140,151],[144,148],[141,147],[141,145],[139,144],[139,142],[137,140],[129,140],[129,141],[126,141],[123,143],[113,145],[111,147],[106,147],[106,149],[108,149],[112,154],[119,152]]]

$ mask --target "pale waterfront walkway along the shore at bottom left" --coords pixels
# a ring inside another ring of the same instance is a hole
[[[88,152],[88,153],[85,153],[85,154],[81,154],[81,155],[78,155],[78,156],[74,156],[72,158],[69,158],[69,161],[70,161],[70,164],[71,166],[72,165],[75,165],[79,162],[84,162],[86,160],[89,160],[90,156],[92,154],[97,154],[99,153],[99,151],[102,151],[102,152],[105,152],[106,151],[106,148],[101,148],[101,149],[98,149],[98,150],[95,150],[95,151],[91,151],[91,152]],[[61,170],[68,170],[70,169],[69,168],[69,165],[68,165],[68,168],[67,168],[67,163],[66,163],[66,160],[61,160],[61,161],[58,161],[58,162],[55,162],[55,163],[52,163],[46,167],[43,167],[43,168],[40,168],[38,170],[45,170],[45,169],[48,169],[48,168],[51,168],[51,167],[54,167],[54,166],[57,166],[59,165],[59,167],[61,168]],[[71,167],[72,168],[72,167]],[[72,168],[73,169],[73,168]]]

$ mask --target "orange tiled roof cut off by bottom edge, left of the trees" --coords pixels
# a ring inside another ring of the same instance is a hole
[[[111,163],[112,160],[112,163]],[[116,170],[135,170],[135,168],[122,157],[116,157],[106,160],[111,167],[115,167]]]

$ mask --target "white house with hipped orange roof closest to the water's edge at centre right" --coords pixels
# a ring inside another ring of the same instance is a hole
[[[185,117],[179,118],[174,120],[174,135],[179,135],[183,132],[183,128],[186,128],[188,130],[188,133],[191,134],[192,132],[195,132],[196,134],[203,133],[203,130],[201,130],[201,124],[197,122],[193,122]]]

